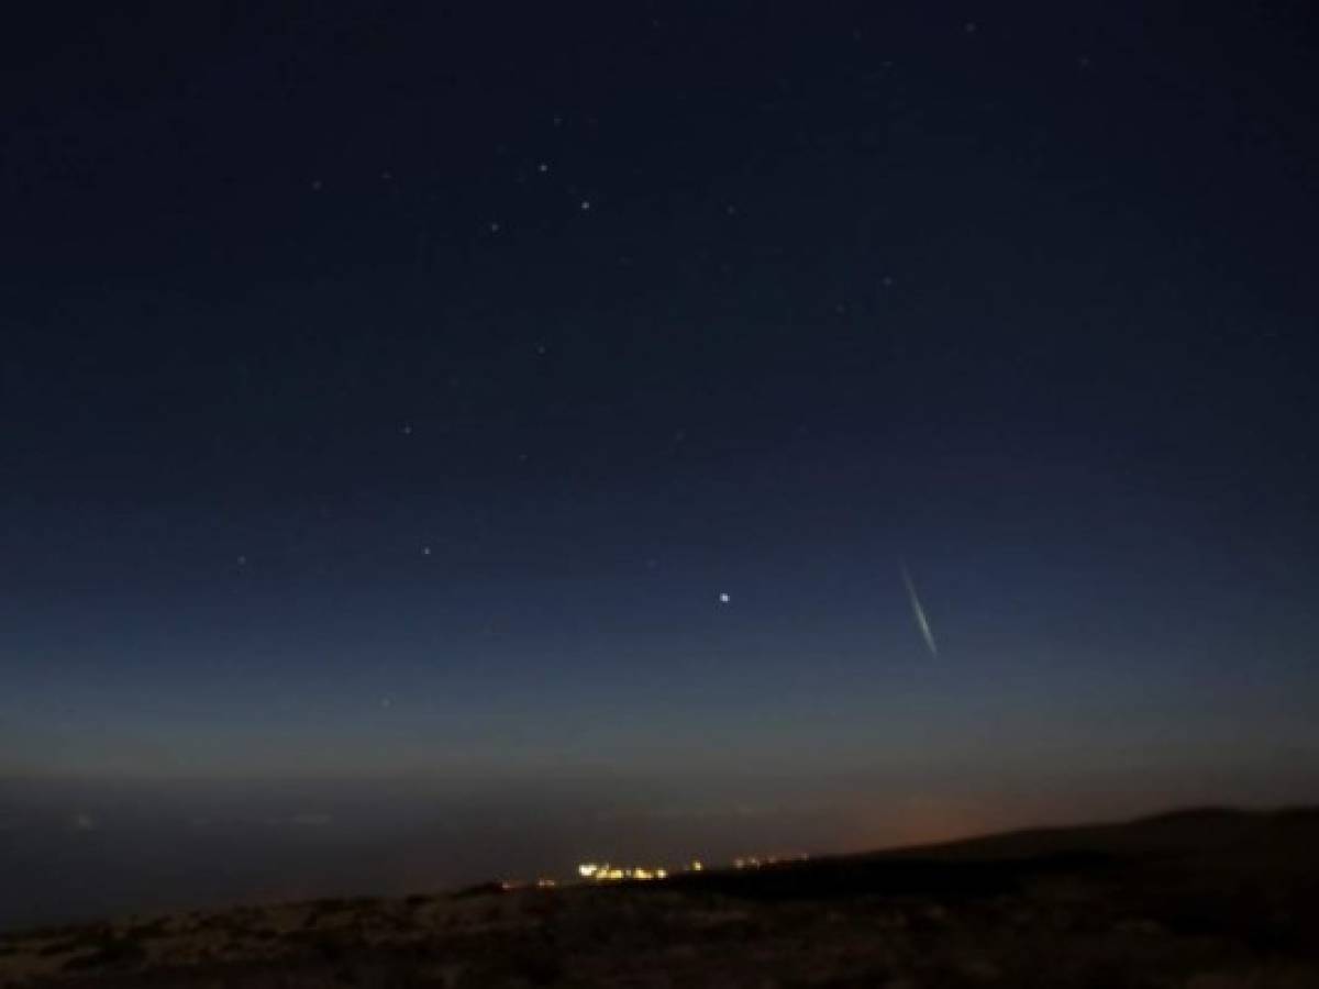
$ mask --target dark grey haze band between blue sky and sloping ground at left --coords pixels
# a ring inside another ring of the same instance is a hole
[[[0,782],[0,928],[836,844],[823,808],[582,779]],[[675,798],[677,799],[677,798]],[[836,823],[836,822],[835,822]]]

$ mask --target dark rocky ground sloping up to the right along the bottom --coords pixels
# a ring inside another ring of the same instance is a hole
[[[1319,810],[0,934],[24,986],[1319,988]]]

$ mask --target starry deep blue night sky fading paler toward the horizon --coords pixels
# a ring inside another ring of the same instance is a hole
[[[29,7],[0,775],[1319,798],[1307,7]]]

